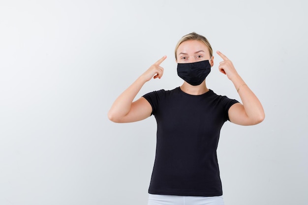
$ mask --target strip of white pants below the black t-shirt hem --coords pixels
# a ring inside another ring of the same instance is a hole
[[[148,205],[224,205],[219,197],[186,197],[149,194]]]

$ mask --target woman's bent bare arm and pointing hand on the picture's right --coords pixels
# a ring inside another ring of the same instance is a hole
[[[222,53],[217,51],[217,54],[223,59],[218,67],[220,72],[226,74],[232,81],[243,102],[230,107],[228,112],[230,121],[240,125],[254,125],[262,122],[265,114],[261,102],[237,73],[233,63]]]

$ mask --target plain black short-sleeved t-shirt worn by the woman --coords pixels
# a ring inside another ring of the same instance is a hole
[[[238,103],[212,90],[190,95],[175,88],[143,96],[157,122],[150,194],[220,196],[216,149],[229,108]]]

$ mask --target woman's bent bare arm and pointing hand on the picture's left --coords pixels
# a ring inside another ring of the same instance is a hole
[[[149,117],[152,113],[150,103],[141,97],[134,101],[134,98],[149,80],[161,78],[163,68],[160,63],[167,57],[164,56],[155,62],[145,73],[143,73],[131,86],[129,86],[113,103],[108,118],[113,122],[134,122]]]

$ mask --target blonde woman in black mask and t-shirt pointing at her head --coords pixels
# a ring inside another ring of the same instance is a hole
[[[217,54],[222,58],[219,71],[234,84],[243,104],[207,88],[213,50],[204,36],[192,32],[183,36],[175,49],[182,86],[150,92],[133,102],[147,81],[162,77],[164,56],[116,99],[108,113],[114,122],[133,122],[151,115],[156,118],[149,205],[223,205],[216,155],[221,126],[226,120],[254,125],[264,119],[260,101],[232,62]]]

